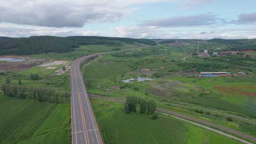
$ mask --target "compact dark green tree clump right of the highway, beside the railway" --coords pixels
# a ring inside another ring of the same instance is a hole
[[[125,113],[137,112],[141,114],[153,114],[156,109],[156,102],[152,99],[129,96],[125,102]]]

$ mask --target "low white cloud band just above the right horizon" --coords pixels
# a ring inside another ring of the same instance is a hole
[[[205,29],[180,30],[180,28],[163,28],[163,27],[115,27],[108,29],[108,34],[104,36],[118,36],[131,38],[160,38],[160,39],[212,39],[212,38],[256,38],[255,28],[236,28],[236,29],[219,29],[212,31],[211,28]]]

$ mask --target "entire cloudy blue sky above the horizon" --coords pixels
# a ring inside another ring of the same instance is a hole
[[[256,38],[256,0],[0,0],[0,36]]]

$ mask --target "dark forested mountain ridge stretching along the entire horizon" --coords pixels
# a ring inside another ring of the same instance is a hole
[[[74,51],[79,45],[123,45],[146,44],[157,45],[175,42],[197,43],[196,39],[144,39],[105,36],[30,36],[30,37],[1,37],[0,55],[8,54],[42,54],[66,53]],[[256,39],[210,39],[210,43],[232,45],[232,50],[256,50]]]

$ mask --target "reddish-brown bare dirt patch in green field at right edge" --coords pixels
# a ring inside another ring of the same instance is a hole
[[[243,87],[253,89],[253,87],[249,86],[249,85],[243,85]],[[223,91],[225,93],[236,94],[236,95],[240,95],[240,96],[247,95],[250,97],[256,97],[256,92],[248,92],[247,90],[245,90],[243,88],[236,87],[236,86],[214,86],[213,88],[215,90]]]

